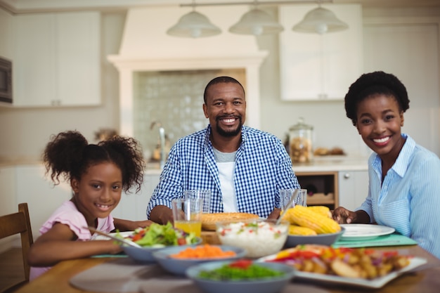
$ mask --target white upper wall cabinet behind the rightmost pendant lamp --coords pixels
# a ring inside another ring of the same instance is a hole
[[[347,86],[363,72],[362,11],[359,4],[323,5],[348,30],[293,32],[316,5],[280,6],[280,91],[282,100],[342,100]]]

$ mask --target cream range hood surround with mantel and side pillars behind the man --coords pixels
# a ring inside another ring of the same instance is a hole
[[[248,126],[259,128],[259,67],[267,51],[259,51],[254,36],[231,34],[247,6],[197,8],[221,28],[214,37],[189,39],[166,34],[191,8],[131,8],[127,13],[119,55],[108,60],[119,70],[121,134],[134,135],[134,72],[163,70],[245,69]]]

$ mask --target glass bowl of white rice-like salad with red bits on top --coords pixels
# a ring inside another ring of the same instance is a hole
[[[279,252],[287,240],[289,222],[251,219],[216,223],[216,235],[222,245],[245,249],[246,257],[259,258]]]

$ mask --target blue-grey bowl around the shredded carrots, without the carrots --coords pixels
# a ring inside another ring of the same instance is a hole
[[[169,273],[174,273],[175,275],[185,275],[185,271],[190,266],[194,266],[199,263],[205,263],[208,261],[227,261],[232,259],[240,259],[245,256],[245,249],[240,247],[232,247],[227,245],[212,245],[216,247],[220,247],[224,252],[233,251],[235,252],[235,256],[221,257],[221,258],[209,258],[209,259],[176,259],[170,257],[171,254],[177,254],[182,250],[187,249],[188,247],[167,247],[164,249],[157,250],[153,252],[153,257],[157,261],[157,263],[165,269],[165,271],[169,271]]]

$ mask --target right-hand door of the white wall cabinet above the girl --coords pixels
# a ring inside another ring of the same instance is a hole
[[[100,18],[95,12],[56,14],[61,105],[101,103]]]

